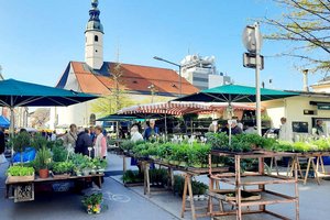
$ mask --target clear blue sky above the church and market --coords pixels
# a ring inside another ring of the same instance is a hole
[[[252,19],[278,18],[271,0],[99,0],[105,61],[175,68],[185,55],[215,55],[218,70],[235,84],[254,85],[242,66],[242,31]],[[84,31],[90,0],[0,0],[0,65],[6,78],[55,86],[69,61],[84,61]],[[263,33],[268,28],[261,28]],[[287,45],[264,41],[262,80],[273,88],[300,89],[301,74],[290,58],[268,57]],[[310,76],[309,84],[322,75]],[[267,85],[267,84],[266,84]]]

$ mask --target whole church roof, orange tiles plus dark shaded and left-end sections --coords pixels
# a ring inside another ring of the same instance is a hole
[[[150,95],[151,85],[154,85],[157,96],[177,96],[179,94],[179,76],[172,69],[132,64],[119,64],[119,66],[117,68],[117,63],[105,62],[101,69],[97,70],[84,62],[70,62],[56,87],[69,89],[68,78],[70,74],[74,74],[80,91],[109,95],[110,89],[116,86],[113,76],[120,73],[121,87],[131,94]],[[183,95],[189,95],[197,92],[198,89],[182,78],[182,91]]]

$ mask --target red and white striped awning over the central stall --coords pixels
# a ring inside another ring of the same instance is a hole
[[[254,106],[244,103],[231,103],[234,110],[255,110]],[[158,102],[138,105],[123,108],[118,111],[119,114],[135,114],[135,113],[161,113],[172,116],[183,116],[187,113],[211,113],[222,111],[228,107],[228,103],[204,103],[204,102]]]

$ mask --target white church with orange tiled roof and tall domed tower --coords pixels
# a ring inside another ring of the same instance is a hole
[[[150,67],[135,64],[120,64],[103,61],[103,26],[100,21],[98,0],[91,1],[89,20],[85,31],[85,62],[69,62],[56,84],[57,88],[73,89],[98,96],[109,96],[113,88],[124,90],[135,102],[143,100],[170,100],[183,95],[197,92],[184,77],[167,68]],[[56,107],[51,109],[51,129],[77,125],[89,125],[98,118],[92,112],[88,101],[70,107]]]

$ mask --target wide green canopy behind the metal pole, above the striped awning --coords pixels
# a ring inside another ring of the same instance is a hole
[[[261,89],[261,100],[273,100],[298,96],[297,92],[289,92],[275,89]],[[255,102],[255,87],[226,85],[211,89],[205,89],[197,94],[185,96],[175,101],[204,101],[204,102]]]

